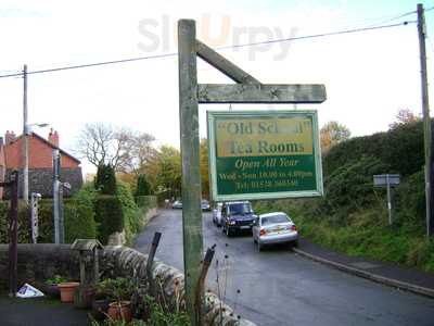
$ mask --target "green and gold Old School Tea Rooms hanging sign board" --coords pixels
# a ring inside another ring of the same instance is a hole
[[[322,195],[316,111],[208,111],[215,201]]]

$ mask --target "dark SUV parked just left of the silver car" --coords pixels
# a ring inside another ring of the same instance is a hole
[[[221,206],[222,231],[228,237],[240,230],[251,231],[255,218],[248,201],[225,202]]]

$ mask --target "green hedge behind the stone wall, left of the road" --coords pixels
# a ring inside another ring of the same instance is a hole
[[[0,242],[9,242],[9,201],[0,201]],[[99,195],[92,184],[85,185],[73,198],[64,199],[65,242],[77,238],[99,238],[106,243],[108,236],[125,230],[130,242],[144,224],[144,215],[156,208],[155,196],[132,197],[129,186],[118,183],[116,196]],[[18,242],[30,242],[27,205],[18,205]],[[39,203],[38,242],[53,242],[53,202],[42,199]]]

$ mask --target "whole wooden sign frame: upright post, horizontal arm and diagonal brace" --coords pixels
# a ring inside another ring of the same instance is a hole
[[[203,294],[195,304],[203,263],[203,225],[199,103],[322,103],[324,85],[264,85],[256,78],[196,40],[195,22],[178,22],[179,115],[182,159],[182,230],[186,301],[191,325],[202,325]],[[197,85],[196,57],[200,57],[235,85]]]

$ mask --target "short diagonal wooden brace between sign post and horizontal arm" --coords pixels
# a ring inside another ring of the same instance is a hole
[[[209,63],[212,66],[219,70],[226,76],[239,84],[251,84],[258,85],[259,80],[252,77],[250,74],[239,68],[232,62],[227,60],[225,57],[218,54],[208,46],[204,45],[200,40],[196,40],[197,57]]]

